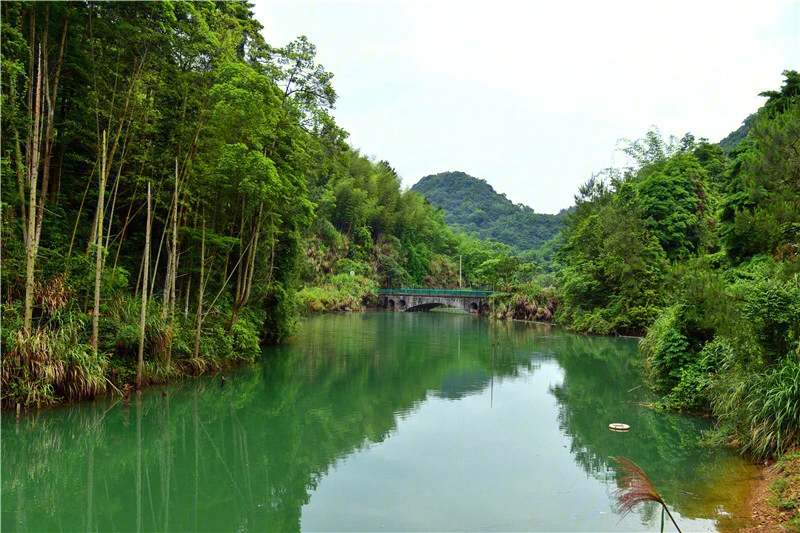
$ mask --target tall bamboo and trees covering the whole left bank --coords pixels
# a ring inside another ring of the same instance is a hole
[[[4,407],[252,360],[320,285],[454,276],[315,47],[261,29],[238,1],[2,4]]]

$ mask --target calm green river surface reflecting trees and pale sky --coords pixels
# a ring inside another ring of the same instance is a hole
[[[224,388],[216,376],[129,408],[4,414],[0,525],[658,531],[655,507],[621,521],[613,511],[609,457],[623,455],[683,531],[735,528],[751,470],[696,445],[705,421],[638,405],[648,397],[635,351],[467,315],[313,318],[291,346],[226,373]]]

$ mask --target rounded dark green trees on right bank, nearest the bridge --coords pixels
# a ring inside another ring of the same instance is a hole
[[[567,217],[559,251],[562,305],[556,319],[592,333],[640,334],[663,299],[665,253],[641,217],[637,189],[595,179]]]

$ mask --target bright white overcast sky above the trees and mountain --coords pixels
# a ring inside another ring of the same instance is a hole
[[[800,70],[798,0],[251,1],[268,43],[317,46],[337,124],[404,187],[461,170],[539,213],[619,139],[718,142]]]

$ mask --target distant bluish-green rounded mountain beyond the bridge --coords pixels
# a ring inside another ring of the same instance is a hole
[[[425,176],[411,187],[442,208],[445,222],[456,232],[491,239],[516,252],[537,250],[563,227],[562,215],[534,213],[498,194],[486,180],[464,172]]]

